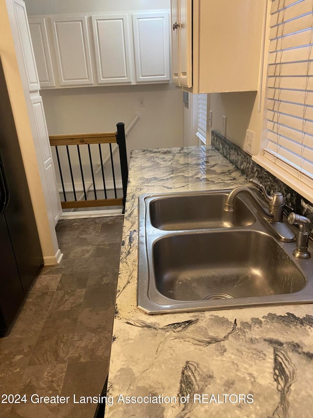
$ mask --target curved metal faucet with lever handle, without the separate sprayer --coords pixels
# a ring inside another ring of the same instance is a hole
[[[235,187],[227,196],[224,206],[224,211],[233,212],[234,211],[234,200],[235,197],[244,193],[246,197],[249,198],[251,203],[256,208],[257,212],[263,215],[264,218],[268,221],[270,228],[273,230],[274,234],[284,242],[295,241],[296,236],[294,232],[289,228],[289,226],[283,222],[285,198],[282,193],[274,192],[272,196],[269,196],[264,188],[264,186],[258,183],[254,179],[250,179],[250,183],[256,186],[260,192],[264,195],[265,199],[268,202],[268,208],[264,207],[264,201],[258,197],[252,189],[246,186]],[[261,217],[262,219],[262,217]]]

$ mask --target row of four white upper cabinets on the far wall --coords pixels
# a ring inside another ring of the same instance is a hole
[[[168,83],[169,16],[166,9],[31,16],[41,87]]]

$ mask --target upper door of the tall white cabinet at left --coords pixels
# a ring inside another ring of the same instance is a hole
[[[39,78],[36,69],[35,55],[31,43],[30,30],[27,20],[25,3],[22,0],[13,0],[17,31],[22,47],[22,57],[29,91],[39,90]]]

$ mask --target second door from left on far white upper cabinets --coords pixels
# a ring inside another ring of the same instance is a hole
[[[87,16],[51,16],[61,86],[93,84]]]

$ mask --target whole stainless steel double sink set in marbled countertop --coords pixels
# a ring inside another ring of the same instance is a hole
[[[229,192],[139,197],[139,309],[163,314],[313,302],[313,259],[294,258],[295,243],[276,239],[245,196],[225,212]]]

